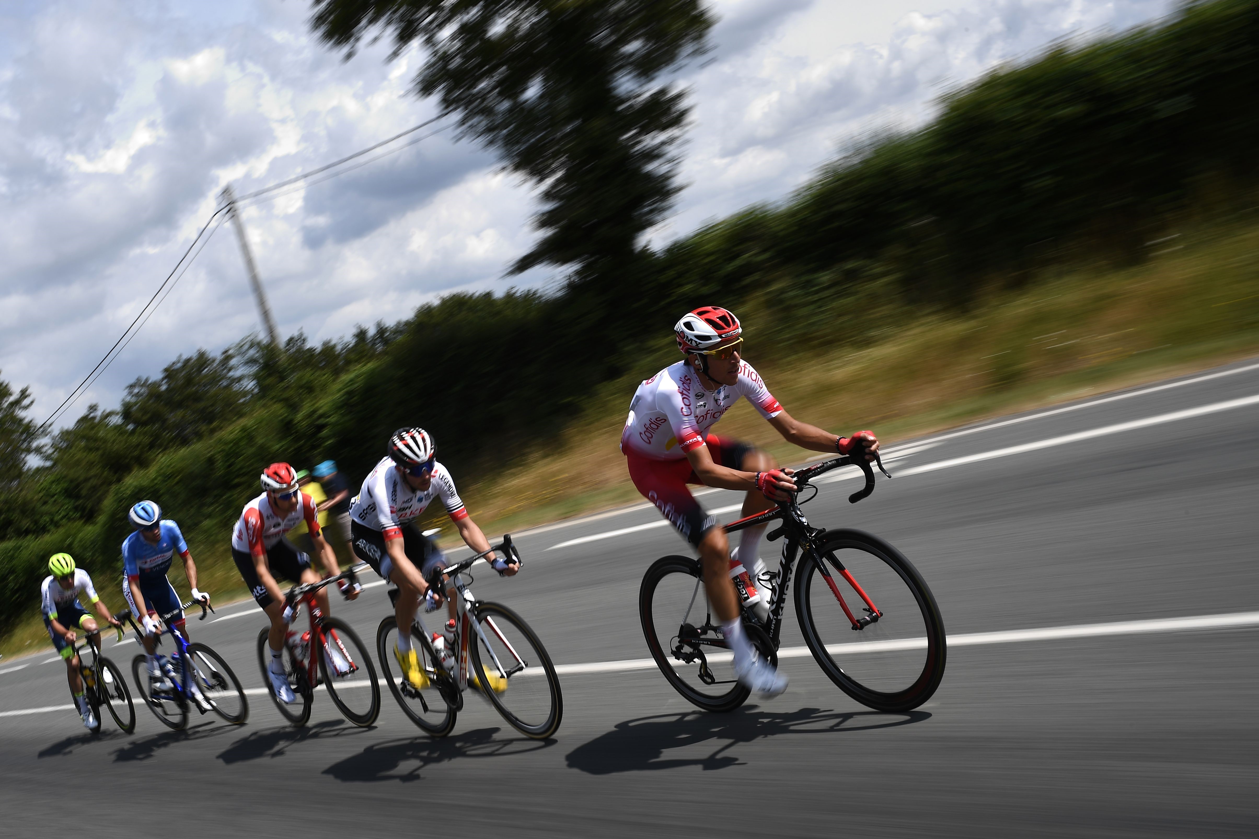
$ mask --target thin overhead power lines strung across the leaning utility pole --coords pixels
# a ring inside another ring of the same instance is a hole
[[[388,146],[389,143],[392,143],[392,142],[394,142],[397,140],[400,140],[400,138],[405,137],[407,135],[412,135],[412,133],[419,131],[421,128],[423,128],[426,126],[433,125],[439,118],[441,117],[433,117],[432,119],[426,119],[424,122],[421,122],[418,126],[412,126],[410,128],[407,128],[405,131],[403,131],[400,133],[397,133],[393,137],[389,137],[388,140],[381,140],[380,142],[374,143],[371,146],[368,146],[366,148],[360,148],[359,151],[354,152],[353,155],[346,155],[345,157],[341,157],[340,160],[335,160],[331,164],[326,164],[324,166],[320,166],[319,169],[312,169],[308,172],[302,172],[301,175],[297,175],[296,177],[290,177],[287,180],[279,181],[278,184],[272,184],[269,186],[264,186],[261,190],[254,190],[253,192],[247,192],[246,195],[242,195],[240,197],[235,199],[235,201],[229,201],[229,203],[224,204],[223,206],[219,206],[218,209],[215,209],[214,213],[210,214],[210,218],[205,220],[205,224],[201,226],[201,229],[196,233],[196,236],[193,239],[191,244],[188,245],[188,249],[184,252],[184,255],[181,255],[179,258],[179,262],[175,263],[175,267],[171,269],[171,272],[169,274],[166,274],[166,279],[164,279],[162,283],[161,283],[161,286],[157,287],[157,291],[154,292],[154,296],[149,298],[149,302],[145,303],[144,308],[140,309],[140,313],[136,314],[135,319],[127,326],[126,330],[123,330],[122,335],[118,336],[118,340],[113,342],[113,346],[110,347],[108,352],[106,352],[104,356],[102,356],[101,360],[96,362],[96,366],[92,367],[91,372],[88,372],[88,375],[83,377],[83,380],[78,384],[78,386],[74,387],[74,390],[72,390],[71,394],[64,400],[62,400],[62,404],[57,406],[57,409],[48,416],[48,419],[45,419],[43,423],[40,423],[39,428],[35,429],[35,434],[37,435],[42,434],[47,428],[49,428],[53,423],[55,423],[57,419],[62,414],[64,414],[67,410],[69,410],[74,405],[74,403],[77,403],[79,400],[79,397],[84,392],[87,392],[88,387],[91,387],[96,382],[96,380],[99,379],[101,375],[106,370],[110,369],[110,365],[113,364],[113,361],[118,357],[118,355],[123,350],[127,348],[127,345],[131,343],[131,340],[133,337],[136,337],[136,333],[138,333],[140,330],[144,327],[144,325],[149,322],[149,318],[152,317],[152,313],[155,311],[157,311],[157,307],[162,304],[162,302],[166,299],[166,297],[170,296],[170,292],[174,291],[174,288],[179,283],[179,281],[183,279],[184,274],[188,272],[188,268],[193,264],[193,259],[195,259],[196,255],[201,253],[201,250],[205,248],[205,244],[210,240],[210,238],[219,229],[219,226],[222,226],[224,219],[227,218],[224,215],[225,213],[228,213],[233,208],[239,208],[240,203],[246,201],[246,200],[253,200],[254,203],[261,203],[261,201],[257,201],[256,199],[259,199],[263,195],[268,195],[271,192],[281,190],[281,189],[283,189],[286,186],[292,186],[295,184],[305,181],[305,180],[307,180],[310,177],[313,177],[315,175],[320,175],[322,172],[327,172],[329,170],[336,169],[337,166],[340,166],[342,164],[347,164],[351,160],[356,160],[359,157],[363,157],[364,155],[368,155],[368,153],[375,151],[376,148],[380,148],[383,146]],[[363,161],[358,166],[351,166],[349,169],[345,169],[345,170],[341,170],[341,171],[337,171],[337,172],[332,172],[331,175],[329,175],[326,177],[319,179],[317,181],[315,181],[315,184],[320,184],[320,182],[322,182],[325,180],[330,180],[332,177],[337,177],[339,175],[345,175],[346,172],[351,172],[351,171],[354,171],[356,169],[361,169],[363,166],[373,164],[373,162],[380,160],[381,157],[387,157],[387,156],[389,156],[392,153],[402,151],[403,148],[407,148],[409,146],[414,146],[415,143],[418,143],[418,142],[421,142],[423,140],[428,140],[429,137],[432,137],[432,136],[434,136],[434,135],[444,131],[447,127],[448,126],[443,126],[442,128],[438,128],[437,131],[428,132],[427,135],[424,135],[422,137],[415,137],[412,141],[409,141],[407,143],[403,143],[402,146],[399,146],[397,148],[392,148],[392,150],[387,151],[383,155],[378,155],[378,156],[375,156],[375,157],[373,157],[370,160]],[[274,197],[279,197],[279,196],[277,195]],[[271,199],[266,199],[266,200],[271,200]],[[218,219],[219,223],[214,226],[214,230],[210,230],[209,235],[206,235],[205,231],[209,230],[210,224],[213,224],[215,219]],[[198,247],[198,243],[200,243],[200,247]],[[196,253],[193,253],[194,248],[196,249]],[[191,258],[190,258],[190,255],[191,255]],[[183,265],[183,270],[180,270],[181,265]],[[176,277],[176,273],[179,274],[178,277]],[[171,278],[174,278],[174,281],[175,281],[174,283],[171,283]],[[167,289],[167,284],[170,286],[169,289]],[[162,289],[166,289],[165,294],[162,294]],[[159,297],[160,297],[160,299],[159,299]]]

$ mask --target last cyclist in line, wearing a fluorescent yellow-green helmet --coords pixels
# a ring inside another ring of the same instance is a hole
[[[44,626],[48,628],[48,636],[53,639],[53,647],[65,659],[65,678],[71,683],[71,693],[74,694],[74,704],[78,707],[79,716],[83,717],[83,727],[92,731],[101,723],[83,696],[79,659],[74,654],[74,642],[78,640],[76,628],[84,633],[97,630],[96,619],[81,605],[83,597],[87,597],[87,604],[96,609],[96,613],[107,624],[117,626],[118,621],[101,603],[101,597],[97,596],[96,589],[92,586],[92,577],[83,569],[74,567],[74,557],[69,553],[53,553],[48,560],[48,572],[49,576],[44,579],[40,587]],[[91,635],[88,642],[99,654],[101,636]]]

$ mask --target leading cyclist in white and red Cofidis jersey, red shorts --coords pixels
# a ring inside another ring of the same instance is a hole
[[[752,365],[743,360],[743,327],[724,308],[704,306],[674,327],[686,358],[642,382],[630,404],[621,450],[635,487],[672,522],[699,552],[704,587],[721,620],[723,636],[734,652],[739,682],[767,696],[787,689],[787,677],[758,658],[743,631],[739,595],[731,577],[744,579],[749,605],[760,600],[753,579],[764,571],[757,556],[764,526],[749,527],[737,553],[725,530],[704,512],[686,484],[747,489],[743,516],[753,516],[786,499],[796,489],[791,469],[779,469],[769,454],[745,443],[709,434],[709,429],[740,397],[789,443],[815,452],[849,454],[857,447],[872,460],[879,440],[872,431],[837,436],[801,423],[783,410]]]

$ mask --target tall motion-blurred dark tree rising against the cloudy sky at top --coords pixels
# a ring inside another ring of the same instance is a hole
[[[621,275],[679,186],[671,147],[685,94],[658,77],[704,52],[699,0],[312,0],[311,25],[353,55],[373,30],[397,58],[426,48],[418,96],[458,114],[462,136],[543,186],[545,231],[512,265]]]

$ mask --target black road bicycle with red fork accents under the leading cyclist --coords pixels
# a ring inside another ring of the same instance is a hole
[[[883,460],[876,458],[876,463],[890,478]],[[944,677],[944,621],[927,582],[900,551],[878,536],[818,530],[805,518],[801,504],[817,496],[817,486],[810,482],[844,465],[865,473],[865,487],[849,496],[851,503],[874,492],[874,469],[864,454],[833,458],[797,470],[797,491],[777,502],[777,508],[725,526],[726,532],[735,532],[778,521],[767,538],[786,537],[778,570],[755,584],[771,595],[769,614],[762,621],[744,608],[743,624],[759,654],[777,664],[794,570],[796,614],[822,672],[861,704],[909,711],[927,702]],[[812,494],[802,499],[810,489]],[[700,708],[733,711],[749,691],[734,677],[733,657],[720,620],[703,595],[701,577],[699,560],[661,557],[643,576],[638,615],[651,655],[669,683]],[[742,581],[735,584],[743,587]],[[742,599],[744,591],[739,594]]]

